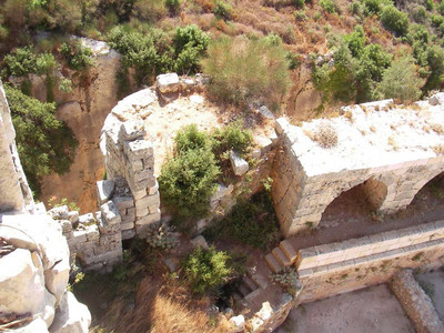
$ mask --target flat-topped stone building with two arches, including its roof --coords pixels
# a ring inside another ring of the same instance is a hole
[[[284,235],[316,228],[326,206],[357,185],[380,213],[407,206],[444,171],[444,105],[436,102],[443,95],[411,109],[391,100],[346,107],[342,117],[301,127],[278,119],[282,150],[274,160],[272,196]],[[330,148],[325,127],[337,137]]]

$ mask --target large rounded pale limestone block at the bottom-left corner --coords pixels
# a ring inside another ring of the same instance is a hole
[[[44,287],[39,255],[17,249],[0,258],[0,312],[31,313],[49,326],[53,321],[56,297]]]

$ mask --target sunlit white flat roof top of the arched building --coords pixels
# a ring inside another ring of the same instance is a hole
[[[392,100],[350,105],[340,113],[337,118],[301,125],[278,120],[278,131],[283,131],[287,147],[291,144],[309,176],[345,170],[398,169],[400,163],[425,164],[437,157],[436,148],[444,148],[444,93],[411,105],[395,105]],[[312,138],[320,127],[329,124],[337,134],[337,144],[323,148]]]

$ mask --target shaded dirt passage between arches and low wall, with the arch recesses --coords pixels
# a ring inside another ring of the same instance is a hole
[[[407,209],[385,216],[383,221],[372,219],[367,204],[354,188],[341,194],[325,210],[320,228],[290,239],[295,250],[340,242],[421,223],[444,219],[444,181],[432,181],[415,196]]]

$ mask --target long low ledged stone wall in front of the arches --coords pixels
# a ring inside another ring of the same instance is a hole
[[[444,221],[302,249],[295,264],[303,285],[300,301],[386,282],[401,268],[443,262]]]

